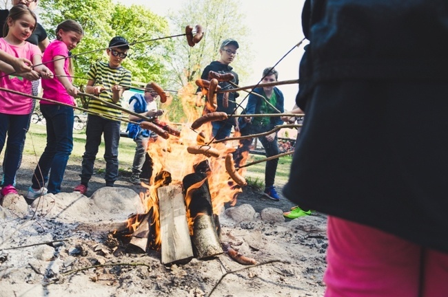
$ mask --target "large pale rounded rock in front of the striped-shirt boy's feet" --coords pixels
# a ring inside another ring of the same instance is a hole
[[[90,198],[105,212],[126,214],[143,212],[139,194],[129,188],[100,188]]]

